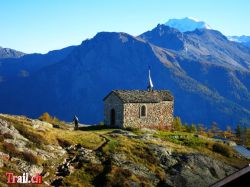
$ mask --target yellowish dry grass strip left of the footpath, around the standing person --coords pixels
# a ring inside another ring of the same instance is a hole
[[[10,122],[20,134],[37,144],[37,146],[42,146],[43,144],[58,145],[59,139],[68,142],[69,144],[81,144],[83,147],[96,149],[104,142],[104,139],[98,134],[110,131],[103,130],[96,133],[94,131],[72,131],[49,127],[43,127],[43,131],[37,131],[32,127],[31,121],[28,120],[28,118],[19,117],[17,119],[16,117],[9,115],[0,115],[0,117]]]

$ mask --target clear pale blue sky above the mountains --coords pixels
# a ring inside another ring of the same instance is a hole
[[[139,35],[187,16],[225,35],[249,35],[249,0],[0,0],[0,46],[46,53],[100,31]]]

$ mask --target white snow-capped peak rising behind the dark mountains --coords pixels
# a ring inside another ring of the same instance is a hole
[[[204,21],[199,21],[193,17],[170,19],[165,25],[178,29],[181,32],[193,31],[195,29],[211,29]]]

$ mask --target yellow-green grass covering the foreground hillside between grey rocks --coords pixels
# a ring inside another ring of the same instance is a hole
[[[192,133],[153,130],[150,131],[152,138],[142,141],[140,137],[149,132],[135,129],[124,131],[136,136],[136,138],[131,138],[115,133],[119,129],[109,129],[105,126],[81,127],[74,131],[72,126],[68,124],[61,124],[60,128],[53,128],[50,124],[42,124],[39,128],[35,128],[34,121],[24,116],[0,115],[0,119],[7,121],[29,140],[27,146],[30,150],[36,150],[37,148],[46,150],[48,145],[61,146],[66,149],[71,145],[78,144],[83,148],[95,151],[101,162],[85,162],[76,166],[70,175],[64,177],[62,182],[64,186],[102,186],[104,184],[105,186],[129,186],[129,181],[135,181],[144,186],[152,186],[149,179],[111,164],[113,162],[111,158],[119,153],[119,155],[125,155],[129,162],[145,167],[145,170],[154,173],[159,180],[164,180],[166,172],[161,167],[155,153],[149,149],[149,145],[152,144],[165,146],[171,149],[173,153],[203,153],[236,168],[241,168],[248,163],[248,160],[239,157],[231,147],[224,146],[222,151],[216,151],[215,142],[196,137]],[[0,151],[9,153],[5,144],[4,138],[2,138]],[[223,151],[225,150],[228,154],[224,154]],[[51,183],[56,176],[58,165],[66,158],[72,158],[76,154],[76,152],[70,151],[62,157],[49,160],[44,160],[39,155],[35,155],[35,164],[43,166],[43,179]],[[14,156],[18,157],[19,154]],[[0,175],[4,176],[7,171],[20,173],[20,170],[14,165],[15,163],[12,161],[4,161],[4,167],[0,168]],[[4,185],[4,183],[0,183],[0,185]]]

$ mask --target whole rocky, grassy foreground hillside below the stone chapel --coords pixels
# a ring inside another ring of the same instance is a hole
[[[236,153],[212,152],[213,142],[189,133],[73,131],[24,116],[0,114],[0,140],[2,176],[40,173],[52,186],[209,186],[247,164]]]

